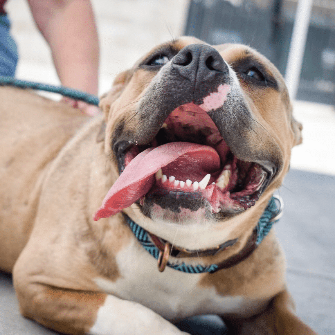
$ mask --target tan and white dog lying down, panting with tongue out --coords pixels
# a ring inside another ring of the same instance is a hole
[[[186,334],[173,323],[197,314],[234,334],[316,334],[286,290],[277,212],[260,225],[302,141],[264,56],[161,44],[94,118],[0,94],[0,268],[24,317],[66,334]]]

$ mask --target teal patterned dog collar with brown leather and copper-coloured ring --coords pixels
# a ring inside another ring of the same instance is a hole
[[[208,266],[203,266],[200,264],[196,266],[187,265],[184,262],[171,263],[169,262],[169,257],[174,256],[176,258],[186,258],[195,256],[202,257],[216,255],[221,251],[234,245],[238,241],[238,239],[229,240],[219,245],[215,249],[190,251],[186,249],[172,247],[169,242],[160,239],[157,236],[146,231],[133,220],[131,220],[127,215],[125,215],[125,218],[138,242],[140,242],[140,244],[151,256],[157,259],[159,271],[164,271],[164,268],[167,265],[172,269],[186,273],[213,273],[220,269],[230,268],[249,257],[266,237],[272,227],[272,224],[280,219],[283,214],[283,207],[284,205],[282,198],[277,195],[273,195],[268,202],[265,211],[259,219],[257,226],[254,228],[253,233],[247,241],[245,247],[238,254],[229,257],[225,261],[218,264],[211,264]]]

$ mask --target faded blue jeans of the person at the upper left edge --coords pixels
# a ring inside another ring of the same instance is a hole
[[[9,35],[10,22],[6,14],[0,15],[0,75],[14,77],[18,60],[17,47]]]

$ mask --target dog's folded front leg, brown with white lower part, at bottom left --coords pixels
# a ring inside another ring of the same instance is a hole
[[[110,294],[15,285],[21,314],[66,334],[186,335],[152,310]]]

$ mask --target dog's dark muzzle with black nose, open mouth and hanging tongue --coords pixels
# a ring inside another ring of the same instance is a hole
[[[120,177],[95,219],[135,202],[144,215],[158,206],[177,222],[184,209],[206,217],[255,204],[274,171],[250,150],[253,118],[231,71],[201,44],[183,48],[160,69],[141,99],[136,130],[114,140]]]

